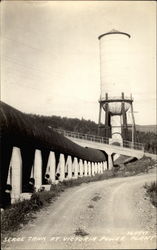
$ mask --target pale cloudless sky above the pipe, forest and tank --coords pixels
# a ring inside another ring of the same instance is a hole
[[[3,1],[1,100],[26,113],[98,122],[98,36],[112,29],[131,35],[135,122],[156,124],[155,1]]]

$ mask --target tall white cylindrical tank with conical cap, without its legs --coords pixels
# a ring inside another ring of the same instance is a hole
[[[129,41],[130,35],[117,30],[99,36],[100,40],[100,74],[101,74],[101,100],[115,99],[109,103],[111,113],[120,114],[121,103],[116,99],[121,99],[124,92],[125,98],[130,99],[130,85],[128,82],[129,73]],[[125,105],[125,110],[130,105]]]

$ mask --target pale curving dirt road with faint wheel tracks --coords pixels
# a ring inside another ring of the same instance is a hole
[[[155,208],[143,188],[155,178],[152,173],[67,189],[5,249],[155,249]]]

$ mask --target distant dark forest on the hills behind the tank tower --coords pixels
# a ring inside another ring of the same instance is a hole
[[[30,114],[36,121],[40,121],[45,127],[58,128],[84,134],[98,135],[98,124],[85,119],[67,118],[60,116],[42,116]],[[137,126],[141,130],[141,126]],[[131,138],[131,131],[129,131]],[[137,142],[143,143],[145,151],[149,153],[157,153],[157,134],[150,131],[136,131]]]

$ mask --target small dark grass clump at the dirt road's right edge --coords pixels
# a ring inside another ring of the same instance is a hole
[[[145,183],[144,188],[146,194],[149,196],[151,203],[157,207],[157,181],[151,182],[150,184]]]

